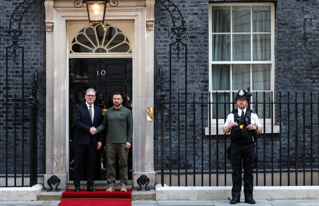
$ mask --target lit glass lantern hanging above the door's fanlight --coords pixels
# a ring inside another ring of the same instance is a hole
[[[106,1],[86,1],[87,14],[91,24],[104,22]]]

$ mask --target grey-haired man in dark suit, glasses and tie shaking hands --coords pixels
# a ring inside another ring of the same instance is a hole
[[[98,127],[102,121],[102,110],[93,105],[96,91],[92,88],[86,90],[86,102],[75,107],[73,125],[74,134],[74,192],[80,192],[81,170],[83,161],[87,160],[87,191],[95,192],[93,188],[95,159],[97,150],[102,147],[103,134],[90,134],[91,127]]]

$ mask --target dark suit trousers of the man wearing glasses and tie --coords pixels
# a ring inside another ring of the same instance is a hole
[[[74,144],[74,186],[80,187],[83,162],[87,161],[87,187],[93,187],[95,175],[95,157],[97,146],[93,144],[92,139],[88,144]]]

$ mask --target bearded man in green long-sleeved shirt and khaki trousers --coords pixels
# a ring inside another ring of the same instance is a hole
[[[107,192],[113,192],[115,187],[115,160],[116,152],[119,158],[119,176],[121,192],[126,192],[128,179],[128,153],[132,144],[133,116],[132,112],[122,106],[123,96],[113,94],[113,106],[105,112],[102,124],[96,128],[99,133],[106,129],[106,160],[107,160]]]

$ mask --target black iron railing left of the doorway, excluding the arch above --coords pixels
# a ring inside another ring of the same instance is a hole
[[[36,71],[28,106],[23,106],[26,102],[15,94],[7,95],[11,98],[0,107],[6,119],[0,123],[4,140],[0,145],[0,187],[32,187],[38,183],[37,77]]]

